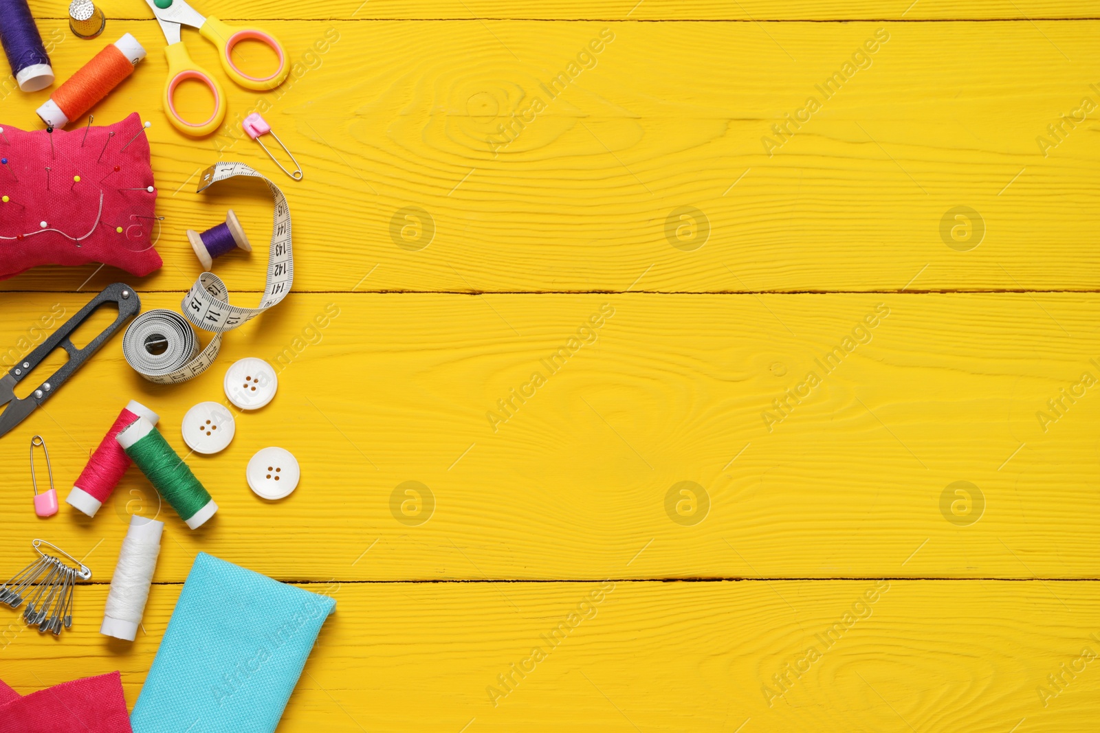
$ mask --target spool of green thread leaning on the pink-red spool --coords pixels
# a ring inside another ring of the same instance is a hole
[[[210,493],[148,420],[139,418],[114,440],[187,526],[197,530],[218,511]]]

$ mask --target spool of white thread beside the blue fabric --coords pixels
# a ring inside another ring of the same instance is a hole
[[[148,589],[153,585],[156,556],[161,554],[163,532],[164,522],[136,514],[130,518],[130,529],[122,541],[119,564],[114,566],[99,633],[128,642],[138,636]]]

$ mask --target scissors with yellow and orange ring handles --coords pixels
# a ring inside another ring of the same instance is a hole
[[[193,62],[187,54],[187,47],[184,46],[179,36],[182,25],[198,29],[204,38],[216,45],[221,56],[221,67],[226,74],[245,89],[257,91],[274,89],[283,84],[287,74],[290,73],[283,44],[270,33],[254,27],[227,25],[213,15],[204,18],[185,0],[145,0],[145,2],[153,9],[153,14],[156,15],[156,21],[161,24],[161,30],[164,31],[164,37],[168,41],[168,45],[164,49],[164,55],[168,59],[168,81],[164,87],[164,112],[168,115],[168,122],[185,135],[201,137],[209,135],[221,125],[222,120],[226,119],[226,92],[222,91],[217,79]],[[278,68],[275,69],[274,74],[254,77],[237,68],[232,57],[233,47],[245,40],[265,43],[275,52],[278,56]],[[213,114],[206,122],[198,124],[188,122],[176,111],[174,101],[176,88],[188,79],[201,81],[213,93]]]

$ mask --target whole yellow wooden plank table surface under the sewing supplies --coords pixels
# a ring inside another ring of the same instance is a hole
[[[96,570],[61,640],[0,614],[0,678],[121,669],[132,704],[205,551],[337,599],[286,733],[1096,731],[1100,16],[957,4],[204,0],[294,70],[227,85],[193,141],[142,3],[85,43],[35,0],[59,78],[123,32],[150,51],[95,114],[153,123],[165,266],[6,280],[0,348],[116,280],[176,308],[184,231],[227,208],[265,243],[263,190],[195,192],[216,160],[286,191],[297,273],[198,379],[146,382],[116,338],[0,440],[0,575],[35,536]],[[48,92],[11,89],[36,127]],[[264,246],[216,265],[242,304]],[[244,356],[278,396],[188,458],[221,511],[162,512],[143,631],[101,636],[156,496],[131,471],[95,520],[37,520],[30,436],[64,497],[127,400],[180,448]],[[275,503],[244,481],[267,445],[302,468]]]

